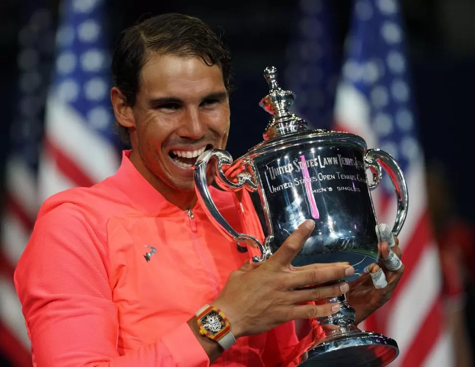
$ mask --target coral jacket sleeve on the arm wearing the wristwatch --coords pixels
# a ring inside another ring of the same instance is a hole
[[[14,275],[37,367],[202,367],[209,358],[184,323],[119,355],[118,311],[107,254],[87,218],[68,204],[41,216]]]

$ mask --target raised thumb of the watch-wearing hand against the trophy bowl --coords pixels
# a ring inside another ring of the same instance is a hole
[[[281,247],[265,263],[267,266],[288,267],[290,261],[298,254],[307,238],[315,228],[315,222],[308,219],[284,241]]]

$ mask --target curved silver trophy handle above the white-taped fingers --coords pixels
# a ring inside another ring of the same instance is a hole
[[[392,233],[395,236],[398,236],[403,228],[407,216],[407,205],[409,201],[407,184],[404,179],[403,171],[390,154],[381,151],[380,149],[368,149],[364,156],[364,161],[366,168],[369,168],[374,176],[373,182],[369,184],[370,190],[374,190],[381,182],[381,167],[387,172],[387,174],[389,174],[389,177],[393,182],[398,197],[398,209]]]

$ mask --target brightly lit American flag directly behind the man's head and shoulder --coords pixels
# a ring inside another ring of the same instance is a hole
[[[119,166],[109,98],[110,53],[104,0],[65,0],[46,110],[39,199],[91,186]]]

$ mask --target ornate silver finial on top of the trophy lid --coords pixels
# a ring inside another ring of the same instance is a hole
[[[279,86],[277,83],[277,67],[266,67],[264,69],[264,77],[269,84],[270,91],[269,94],[262,98],[259,105],[273,115],[272,120],[264,131],[264,140],[291,132],[307,130],[307,123],[288,110],[294,102],[295,94],[290,90],[283,90]]]

